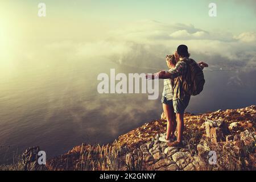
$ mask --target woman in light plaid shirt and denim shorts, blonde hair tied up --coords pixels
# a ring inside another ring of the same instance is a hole
[[[175,55],[166,56],[166,64],[167,67],[170,69],[175,68],[176,65],[176,57]],[[171,143],[176,140],[176,137],[174,135],[177,122],[176,117],[174,113],[174,106],[172,104],[172,97],[173,97],[173,89],[172,85],[174,84],[174,80],[166,79],[164,80],[164,89],[162,94],[162,104],[163,104],[163,111],[164,115],[166,115],[167,119],[167,129],[166,129],[166,135],[163,135],[163,137],[160,137],[159,140],[161,142],[167,142]]]

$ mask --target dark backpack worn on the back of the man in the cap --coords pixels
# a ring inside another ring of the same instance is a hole
[[[186,76],[182,79],[183,89],[187,94],[196,96],[204,89],[205,80],[203,70],[193,59],[186,59],[184,61],[187,63],[188,69]]]

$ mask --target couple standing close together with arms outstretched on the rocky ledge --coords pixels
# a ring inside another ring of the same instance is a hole
[[[191,94],[183,89],[185,78],[189,76],[188,74],[191,74],[187,62],[189,56],[188,47],[180,45],[174,55],[166,56],[166,64],[170,70],[154,74],[155,77],[164,79],[162,103],[167,119],[167,132],[166,136],[160,137],[159,140],[167,142],[170,147],[183,146],[184,111],[191,98]],[[208,67],[203,62],[197,64],[202,70],[204,67]],[[176,128],[177,138],[174,135]]]

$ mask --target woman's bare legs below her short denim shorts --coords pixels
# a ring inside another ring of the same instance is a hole
[[[163,111],[167,119],[166,139],[170,139],[175,133],[175,113],[172,105],[163,104]]]

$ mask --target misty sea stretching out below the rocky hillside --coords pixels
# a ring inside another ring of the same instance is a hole
[[[52,158],[81,143],[105,144],[159,119],[163,81],[158,100],[148,100],[147,94],[99,94],[97,75],[109,74],[111,68],[125,74],[156,72],[111,61],[77,61],[20,64],[13,74],[0,75],[0,163],[11,163],[13,152],[31,146],[40,146]],[[192,97],[188,112],[256,104],[255,69],[206,69],[204,74],[204,91]]]

